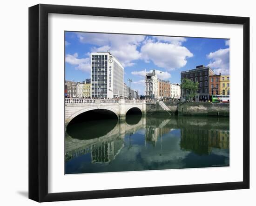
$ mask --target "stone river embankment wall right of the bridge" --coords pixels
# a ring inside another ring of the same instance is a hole
[[[165,101],[172,115],[229,116],[229,103]],[[170,115],[159,102],[146,105],[147,115]]]

